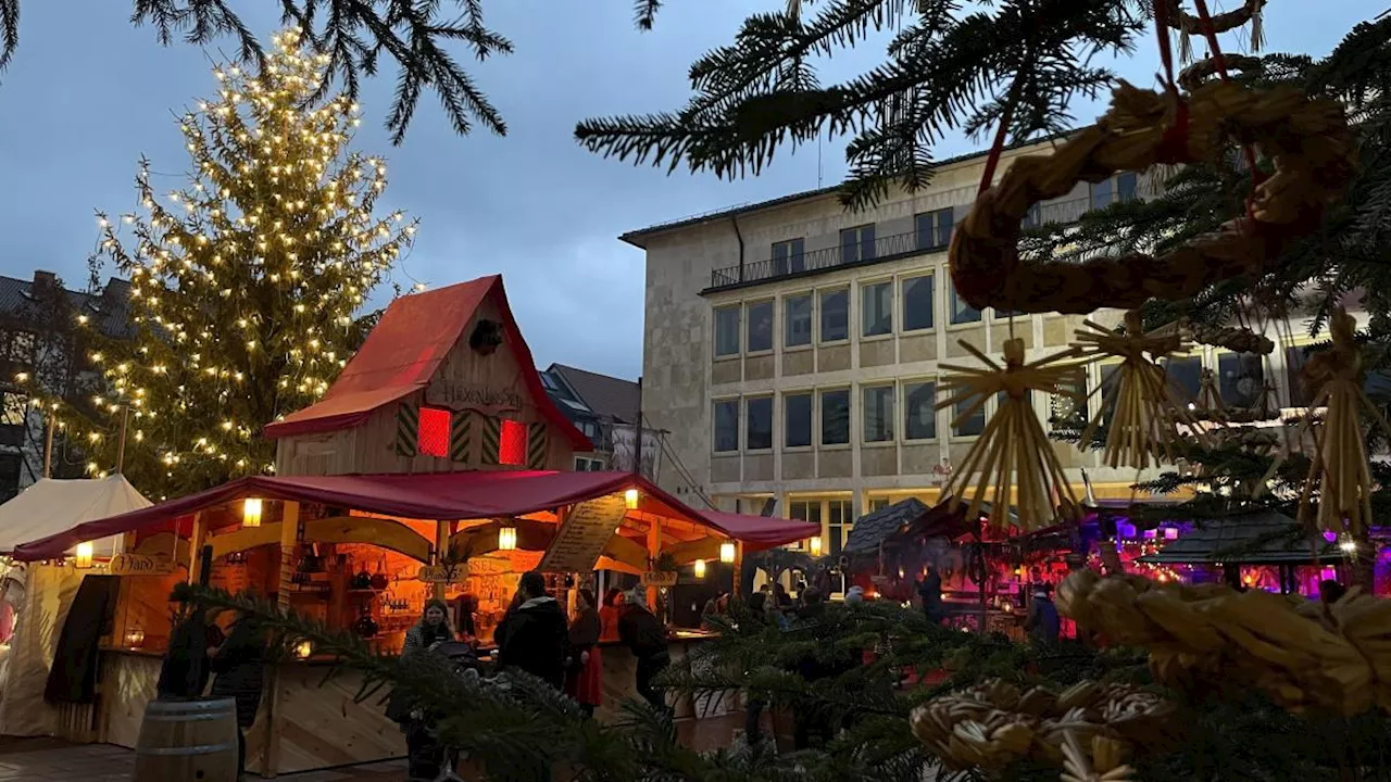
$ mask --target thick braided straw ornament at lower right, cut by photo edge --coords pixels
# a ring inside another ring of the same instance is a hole
[[[1155,678],[1202,694],[1259,690],[1344,717],[1391,711],[1391,600],[1353,587],[1330,607],[1227,584],[1068,576],[1057,609],[1107,643],[1149,650]]]

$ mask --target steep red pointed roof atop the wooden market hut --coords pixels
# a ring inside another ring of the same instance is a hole
[[[512,317],[499,274],[391,302],[324,398],[267,424],[266,437],[275,440],[359,426],[373,412],[424,388],[449,351],[466,338],[465,328],[490,298],[502,316],[504,338],[522,367],[531,402],[576,451],[593,449],[590,440],[574,429],[541,385],[531,351]]]

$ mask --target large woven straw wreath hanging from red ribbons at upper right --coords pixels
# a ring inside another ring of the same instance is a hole
[[[1228,138],[1257,143],[1274,173],[1255,186],[1246,214],[1220,231],[1159,256],[1021,260],[1020,232],[1035,203],[1118,171],[1210,160]],[[1295,86],[1220,81],[1180,97],[1177,89],[1161,93],[1123,82],[1096,125],[1053,154],[1015,159],[1000,182],[976,198],[951,239],[951,281],[976,309],[1024,313],[1135,309],[1152,298],[1191,298],[1214,282],[1259,274],[1292,239],[1317,227],[1323,209],[1346,191],[1355,146],[1342,106]]]

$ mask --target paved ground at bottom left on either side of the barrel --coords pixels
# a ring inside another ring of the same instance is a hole
[[[0,744],[0,782],[129,782],[135,753],[110,744],[68,746],[49,739]],[[405,761],[281,776],[287,782],[399,782]],[[256,776],[252,776],[256,779]]]

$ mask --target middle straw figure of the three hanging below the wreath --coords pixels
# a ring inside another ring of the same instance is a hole
[[[1145,334],[1139,313],[1125,313],[1125,333],[1085,321],[1091,331],[1078,330],[1082,355],[1120,358],[1117,383],[1102,399],[1102,413],[1086,424],[1082,442],[1091,442],[1102,424],[1104,410],[1111,410],[1102,461],[1110,468],[1149,468],[1153,462],[1173,462],[1178,438],[1193,437],[1206,444],[1207,436],[1188,413],[1177,388],[1168,383],[1159,359],[1184,352],[1187,345],[1177,334]],[[1182,433],[1180,431],[1182,427]]]

